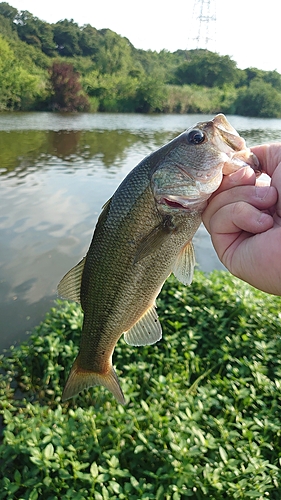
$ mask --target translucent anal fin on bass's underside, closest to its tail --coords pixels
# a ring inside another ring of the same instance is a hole
[[[124,334],[127,344],[134,346],[155,344],[161,337],[162,329],[154,305]]]

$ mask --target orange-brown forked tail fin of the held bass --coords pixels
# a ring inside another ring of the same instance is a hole
[[[89,387],[93,387],[94,385],[103,385],[104,387],[106,387],[106,389],[112,392],[118,403],[122,405],[125,404],[124,394],[120,387],[118,377],[112,366],[110,371],[103,375],[101,373],[95,373],[89,370],[82,370],[78,366],[77,359],[75,360],[67,379],[62,394],[62,401],[66,401],[73,396],[77,396],[77,394],[83,389],[88,389]]]

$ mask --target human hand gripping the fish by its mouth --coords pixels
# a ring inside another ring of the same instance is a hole
[[[270,185],[250,167],[223,178],[203,223],[225,267],[256,288],[281,295],[281,143],[251,148]]]

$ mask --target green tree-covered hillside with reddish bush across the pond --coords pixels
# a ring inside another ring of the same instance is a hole
[[[207,50],[144,51],[110,29],[0,3],[0,110],[281,117],[281,75]]]

